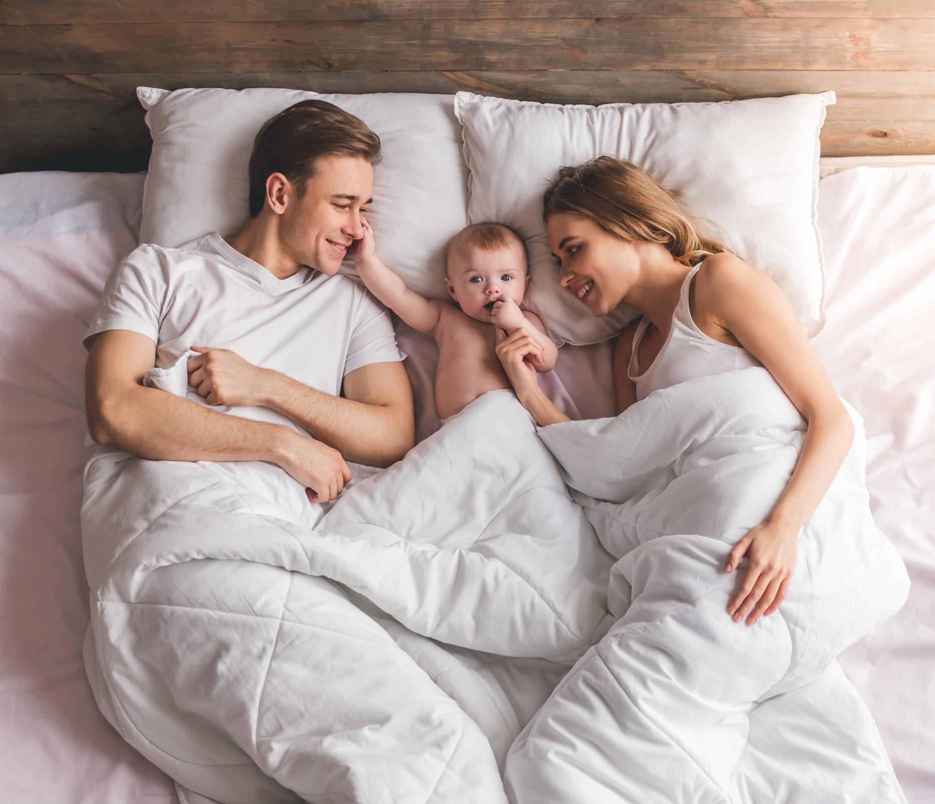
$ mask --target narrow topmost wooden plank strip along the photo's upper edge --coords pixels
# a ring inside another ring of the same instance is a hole
[[[567,18],[932,18],[931,0],[8,0],[7,25]]]

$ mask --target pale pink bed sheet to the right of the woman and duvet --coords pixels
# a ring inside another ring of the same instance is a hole
[[[892,620],[841,655],[903,792],[935,802],[935,165],[821,181],[827,327],[815,348],[863,416],[878,527],[913,582]]]

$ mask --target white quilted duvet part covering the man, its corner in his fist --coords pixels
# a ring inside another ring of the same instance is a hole
[[[82,529],[102,710],[223,802],[503,801],[498,760],[612,624],[612,558],[508,391],[326,513],[278,467],[102,449]]]

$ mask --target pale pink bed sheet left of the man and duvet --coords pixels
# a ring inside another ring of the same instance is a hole
[[[170,804],[94,703],[81,643],[81,338],[143,177],[0,176],[0,804]]]

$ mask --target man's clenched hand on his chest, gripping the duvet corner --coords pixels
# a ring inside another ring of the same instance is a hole
[[[188,384],[209,405],[251,408],[266,405],[275,372],[248,363],[237,352],[193,346],[188,360]]]

